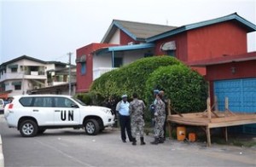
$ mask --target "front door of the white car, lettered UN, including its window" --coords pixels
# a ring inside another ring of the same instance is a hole
[[[79,108],[72,107],[74,104],[74,101],[65,97],[55,98],[55,124],[79,124]]]

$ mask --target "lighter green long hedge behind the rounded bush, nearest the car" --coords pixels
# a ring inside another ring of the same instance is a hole
[[[145,84],[148,76],[160,66],[172,66],[181,64],[177,59],[170,56],[153,56],[143,58],[128,66],[120,67],[111,72],[104,73],[91,85],[91,92],[104,98],[119,97],[127,94],[131,97],[137,92],[145,97]]]

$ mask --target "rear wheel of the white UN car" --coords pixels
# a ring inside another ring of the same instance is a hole
[[[23,137],[33,137],[38,133],[38,125],[32,120],[25,120],[20,124],[20,134]]]

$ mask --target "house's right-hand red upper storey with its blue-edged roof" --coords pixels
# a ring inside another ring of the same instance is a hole
[[[155,43],[155,55],[175,55],[177,59],[189,63],[247,53],[247,33],[255,30],[255,25],[235,13],[181,26],[149,37],[147,42]],[[172,47],[164,49],[168,42],[172,43]],[[199,72],[205,75],[204,68]]]

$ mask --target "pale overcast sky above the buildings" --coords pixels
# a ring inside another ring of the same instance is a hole
[[[255,0],[0,0],[0,63],[20,55],[67,62],[100,43],[113,19],[183,26],[237,12],[256,24]],[[256,32],[248,34],[256,50]]]

